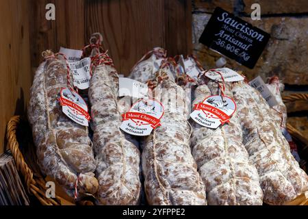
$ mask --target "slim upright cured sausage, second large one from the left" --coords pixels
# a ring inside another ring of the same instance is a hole
[[[137,205],[140,202],[140,151],[138,143],[120,131],[118,74],[110,64],[94,67],[89,89],[94,153],[97,158],[101,205]]]

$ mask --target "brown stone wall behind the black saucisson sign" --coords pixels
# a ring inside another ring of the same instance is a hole
[[[279,3],[279,5],[277,4]],[[251,4],[261,5],[261,20],[250,17]],[[194,53],[207,67],[215,67],[220,54],[198,43],[214,9],[219,6],[263,29],[271,38],[253,69],[227,59],[227,65],[242,70],[248,79],[279,75],[284,83],[308,85],[308,1],[307,0],[193,0]]]

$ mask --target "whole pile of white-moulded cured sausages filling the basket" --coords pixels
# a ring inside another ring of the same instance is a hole
[[[164,116],[161,126],[142,138],[119,128],[131,99],[118,97],[112,64],[92,67],[92,140],[88,129],[65,116],[57,101],[68,82],[65,61],[51,55],[40,65],[28,118],[45,175],[70,196],[76,189],[94,195],[99,205],[282,205],[308,190],[307,174],[259,92],[244,81],[226,83],[225,94],[237,110],[229,123],[209,129],[188,120],[187,85],[176,83],[179,75],[172,65],[154,72],[154,62],[166,58],[164,51],[154,49],[148,55],[131,78],[155,82],[149,95],[162,102]],[[192,105],[218,95],[219,83],[194,83]]]

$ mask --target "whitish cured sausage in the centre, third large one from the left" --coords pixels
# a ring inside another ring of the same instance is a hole
[[[160,72],[162,78],[166,73]],[[191,127],[187,121],[183,88],[163,79],[153,97],[164,105],[160,127],[142,143],[142,171],[150,205],[205,205],[205,187],[196,170],[189,145]]]

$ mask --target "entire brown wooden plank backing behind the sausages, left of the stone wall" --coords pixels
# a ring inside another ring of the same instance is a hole
[[[55,21],[44,17],[47,3],[55,4]],[[191,7],[184,0],[31,0],[31,65],[46,49],[83,47],[94,32],[103,34],[103,47],[125,75],[153,47],[190,53]]]

